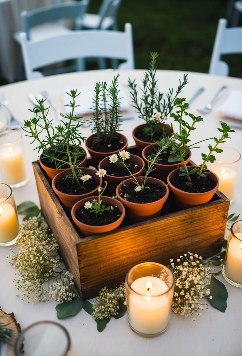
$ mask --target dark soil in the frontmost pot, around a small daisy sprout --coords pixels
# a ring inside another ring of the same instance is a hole
[[[87,198],[88,201],[88,198]],[[92,225],[92,226],[102,226],[108,225],[116,221],[121,215],[121,211],[113,206],[114,210],[110,213],[109,211],[103,211],[102,215],[99,215],[98,218],[95,213],[90,213],[88,209],[78,208],[76,211],[76,218],[81,221],[83,224]]]

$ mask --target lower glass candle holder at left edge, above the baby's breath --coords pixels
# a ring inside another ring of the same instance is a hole
[[[20,232],[12,188],[0,183],[0,246],[15,244]]]

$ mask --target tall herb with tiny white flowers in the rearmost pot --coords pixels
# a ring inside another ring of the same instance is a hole
[[[169,89],[165,97],[163,93],[158,91],[158,79],[156,79],[156,58],[158,53],[150,53],[150,67],[147,72],[144,73],[144,79],[142,79],[143,87],[139,88],[142,91],[142,96],[139,103],[138,90],[135,79],[132,81],[128,78],[128,86],[131,91],[131,99],[133,107],[139,114],[141,119],[144,119],[146,126],[143,129],[144,135],[147,140],[153,140],[155,136],[165,137],[166,132],[161,128],[161,124],[165,122],[167,116],[170,114],[174,101],[177,95],[181,92],[182,88],[188,83],[187,74],[183,76],[183,82],[179,80],[176,93],[173,88]],[[156,138],[158,139],[158,138]]]

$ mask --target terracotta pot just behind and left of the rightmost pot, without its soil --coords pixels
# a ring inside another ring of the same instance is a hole
[[[142,151],[142,157],[144,159],[145,164],[145,168],[147,168],[148,166],[148,159],[147,157],[149,155],[151,155],[152,153],[155,153],[155,150],[152,146],[155,146],[155,144],[153,143],[153,145],[149,145],[143,148]],[[187,157],[187,159],[185,160],[185,163],[188,164],[191,156],[192,156],[192,152],[191,150],[188,150],[189,152],[189,156]],[[160,164],[160,163],[155,163],[154,164],[154,171],[151,171],[149,174],[149,177],[154,177],[154,178],[158,178],[160,180],[163,180],[163,182],[167,183],[167,176],[171,171],[174,171],[174,169],[179,168],[179,166],[181,166],[182,162],[179,163],[174,163],[174,164]]]

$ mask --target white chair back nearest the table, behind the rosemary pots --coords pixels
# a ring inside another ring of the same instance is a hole
[[[134,69],[132,26],[125,24],[125,32],[108,30],[79,30],[40,41],[27,40],[20,33],[27,79],[43,77],[35,71],[49,64],[76,58],[102,57],[121,59],[119,69]]]

